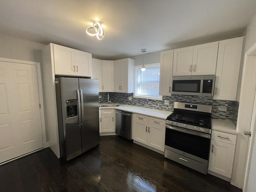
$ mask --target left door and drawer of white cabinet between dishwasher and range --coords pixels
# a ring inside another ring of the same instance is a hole
[[[133,140],[143,144],[148,144],[148,117],[134,114],[132,116],[132,135]]]

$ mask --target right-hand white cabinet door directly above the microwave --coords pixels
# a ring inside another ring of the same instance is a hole
[[[219,42],[194,46],[192,75],[215,75]]]

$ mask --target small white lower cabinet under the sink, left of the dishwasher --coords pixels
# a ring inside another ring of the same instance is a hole
[[[101,132],[115,132],[114,109],[101,109]]]

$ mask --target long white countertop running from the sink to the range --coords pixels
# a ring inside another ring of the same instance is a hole
[[[100,103],[100,104],[106,104],[106,103]],[[111,103],[111,104],[118,104],[118,103]],[[151,116],[155,118],[160,118],[166,120],[166,118],[172,113],[172,111],[164,111],[164,110],[158,110],[158,109],[150,109],[146,107],[138,107],[134,105],[126,105],[126,104],[118,104],[120,106],[118,107],[100,107],[100,109],[118,109],[123,110],[127,112],[142,114],[146,116]]]

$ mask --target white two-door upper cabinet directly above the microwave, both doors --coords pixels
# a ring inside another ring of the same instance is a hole
[[[214,75],[218,42],[174,50],[172,76]]]

